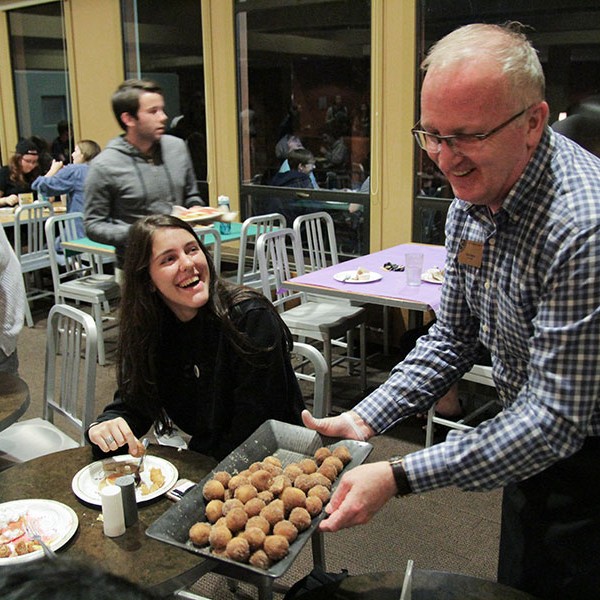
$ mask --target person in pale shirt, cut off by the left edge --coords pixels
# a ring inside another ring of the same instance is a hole
[[[18,375],[17,341],[25,315],[21,265],[0,227],[0,371]]]

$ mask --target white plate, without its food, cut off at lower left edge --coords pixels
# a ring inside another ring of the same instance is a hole
[[[6,521],[19,518],[35,525],[42,539],[53,550],[64,546],[73,537],[79,525],[75,511],[66,504],[55,500],[13,500],[0,504],[0,531],[5,531]],[[17,533],[15,531],[15,535]],[[14,541],[16,542],[20,538],[21,536],[14,538]],[[27,536],[25,538],[29,539]],[[8,547],[12,550],[13,542],[9,542]],[[37,560],[43,556],[44,552],[40,549],[27,554],[0,558],[0,566]]]

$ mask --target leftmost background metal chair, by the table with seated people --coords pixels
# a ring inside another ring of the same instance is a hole
[[[27,277],[29,274],[34,276],[37,274],[39,278],[37,271],[50,268],[50,253],[44,234],[44,223],[48,216],[53,214],[52,204],[45,200],[24,204],[15,211],[15,254],[21,264],[25,283],[25,321],[28,327],[34,326],[30,302],[54,295],[53,291],[43,289],[41,284],[32,285],[32,278]]]

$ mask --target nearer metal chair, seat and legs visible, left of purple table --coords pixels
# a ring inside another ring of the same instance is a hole
[[[289,251],[292,252],[296,272],[293,271]],[[323,354],[328,368],[324,413],[328,414],[331,410],[331,369],[334,364],[332,341],[356,328],[360,332],[360,357],[350,356],[348,348],[345,360],[360,364],[361,388],[366,390],[366,311],[364,308],[340,302],[310,301],[304,292],[285,289],[284,281],[304,273],[302,250],[292,229],[263,233],[258,238],[257,254],[262,292],[273,302],[292,334],[300,339],[309,338],[323,343]],[[271,285],[272,276],[275,280],[274,291]]]

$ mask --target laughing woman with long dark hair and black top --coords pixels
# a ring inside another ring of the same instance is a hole
[[[153,423],[222,459],[263,422],[300,424],[292,337],[272,304],[217,276],[190,225],[151,215],[131,228],[121,295],[118,391],[88,429],[96,456],[137,455]]]

